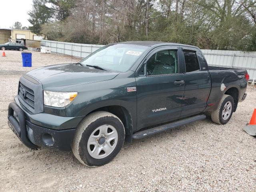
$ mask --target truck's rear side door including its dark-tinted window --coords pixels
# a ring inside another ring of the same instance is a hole
[[[200,50],[183,48],[183,56],[185,90],[180,118],[198,114],[206,108],[211,84],[208,67]]]

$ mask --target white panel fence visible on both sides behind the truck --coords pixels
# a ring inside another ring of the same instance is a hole
[[[41,46],[49,46],[54,53],[84,58],[104,45],[41,40]],[[246,69],[250,80],[256,79],[256,52],[207,49],[202,52],[209,65]]]

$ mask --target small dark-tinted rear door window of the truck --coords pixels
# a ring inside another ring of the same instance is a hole
[[[196,53],[188,50],[184,50],[186,72],[192,72],[200,70]]]

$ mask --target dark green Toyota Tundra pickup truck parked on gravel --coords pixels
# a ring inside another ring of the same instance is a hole
[[[124,140],[206,118],[226,124],[246,97],[246,70],[209,67],[198,47],[122,42],[76,64],[24,74],[8,124],[29,148],[72,149],[88,166],[111,161]]]

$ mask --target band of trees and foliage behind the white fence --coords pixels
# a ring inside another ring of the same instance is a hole
[[[204,49],[256,51],[255,0],[33,0],[33,3],[32,28],[51,40],[87,44],[157,40]]]

